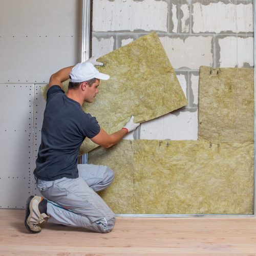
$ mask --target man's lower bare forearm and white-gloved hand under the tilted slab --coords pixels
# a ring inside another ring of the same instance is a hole
[[[134,131],[140,123],[133,122],[134,116],[131,117],[130,121],[126,123],[126,125],[119,131],[108,134],[102,128],[100,132],[91,138],[91,140],[103,147],[109,148],[119,142],[127,133]]]

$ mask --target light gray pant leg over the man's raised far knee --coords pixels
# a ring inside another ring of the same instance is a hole
[[[113,170],[105,165],[78,164],[77,168],[79,177],[94,191],[109,187],[115,177]]]

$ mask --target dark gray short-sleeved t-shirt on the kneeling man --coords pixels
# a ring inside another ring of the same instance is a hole
[[[77,178],[77,157],[83,140],[100,131],[95,117],[84,113],[80,104],[67,97],[59,86],[47,92],[41,130],[41,145],[34,175],[40,180]]]

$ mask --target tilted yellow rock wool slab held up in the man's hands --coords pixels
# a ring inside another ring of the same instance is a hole
[[[131,115],[135,122],[157,118],[187,104],[175,71],[157,34],[150,33],[99,58],[97,69],[110,75],[101,80],[93,103],[84,103],[85,112],[95,116],[108,133],[120,130]],[[67,91],[68,81],[62,83]],[[46,94],[46,88],[42,89]],[[80,154],[97,147],[86,139]]]

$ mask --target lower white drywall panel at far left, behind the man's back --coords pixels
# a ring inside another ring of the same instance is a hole
[[[33,84],[0,84],[0,207],[23,208],[33,173]]]

